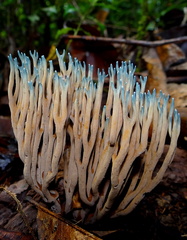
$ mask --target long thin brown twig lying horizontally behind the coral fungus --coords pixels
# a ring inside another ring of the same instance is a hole
[[[171,38],[166,40],[156,40],[156,41],[145,41],[145,40],[134,40],[134,39],[118,39],[118,38],[106,38],[106,37],[95,37],[95,36],[80,36],[80,35],[63,35],[62,39],[72,39],[72,40],[83,40],[83,41],[101,41],[101,42],[111,42],[127,45],[139,45],[144,47],[158,47],[170,43],[181,43],[187,42],[187,36],[182,36],[178,38]]]

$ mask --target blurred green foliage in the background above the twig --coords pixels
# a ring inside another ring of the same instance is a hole
[[[164,16],[169,11],[184,7],[186,0],[1,0],[0,53],[46,52],[63,34],[94,35],[84,24],[100,36],[146,39],[168,26]]]

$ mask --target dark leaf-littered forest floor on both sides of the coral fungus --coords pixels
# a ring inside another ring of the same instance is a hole
[[[159,55],[160,52],[162,54]],[[181,134],[174,160],[160,184],[147,193],[129,215],[104,219],[94,225],[76,224],[105,240],[183,240],[187,239],[186,56],[178,46],[169,44],[156,51],[149,49],[143,58],[148,71],[142,74],[149,74],[148,85],[166,90],[176,99],[175,105],[181,113]],[[179,66],[181,60],[183,63]],[[176,63],[178,68],[172,67]],[[155,85],[158,79],[161,81]],[[0,240],[40,238],[38,208],[30,199],[46,208],[48,206],[23,180],[23,163],[11,128],[6,87],[0,95],[0,186]]]

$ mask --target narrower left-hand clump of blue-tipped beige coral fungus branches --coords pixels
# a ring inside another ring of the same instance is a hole
[[[47,69],[44,57],[38,59],[35,52],[31,56],[32,63],[19,53],[20,66],[9,56],[12,125],[26,181],[46,201],[56,202],[58,193],[48,186],[64,151],[69,81],[54,72],[52,62]]]

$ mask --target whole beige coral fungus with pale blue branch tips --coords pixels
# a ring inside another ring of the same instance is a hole
[[[54,210],[84,222],[130,213],[163,178],[180,132],[174,100],[145,93],[131,63],[108,70],[109,90],[103,106],[106,75],[57,51],[60,72],[44,57],[18,53],[10,61],[9,104],[12,126],[24,163],[24,177]],[[168,152],[163,156],[166,137]],[[161,160],[162,158],[162,160]],[[63,164],[65,202],[51,183]]]

